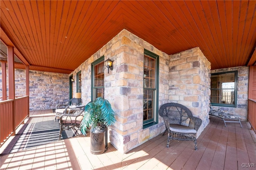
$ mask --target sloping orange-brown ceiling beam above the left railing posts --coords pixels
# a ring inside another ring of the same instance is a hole
[[[14,47],[14,54],[18,57],[18,59],[20,59],[20,61],[25,64],[25,65],[30,65],[28,63],[28,61],[23,57],[23,55],[20,53],[20,51],[18,51],[18,49],[16,49],[16,47],[14,46],[14,43],[12,43],[11,39],[9,38],[9,36],[5,33],[5,31],[2,29],[2,27],[0,28],[0,37],[1,37],[1,41],[6,45],[6,46],[12,46]]]

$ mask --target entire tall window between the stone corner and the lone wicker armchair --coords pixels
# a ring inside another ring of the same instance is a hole
[[[159,56],[144,49],[143,129],[158,123]]]

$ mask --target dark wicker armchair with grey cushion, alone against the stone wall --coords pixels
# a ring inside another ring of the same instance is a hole
[[[176,139],[193,141],[197,150],[196,132],[202,125],[200,118],[194,117],[187,107],[177,103],[163,104],[159,109],[159,115],[164,118],[166,126],[164,133],[168,131],[167,148],[170,140]]]

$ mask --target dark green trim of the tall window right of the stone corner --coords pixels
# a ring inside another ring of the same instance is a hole
[[[156,121],[152,121],[150,123],[146,123],[145,121],[143,121],[143,129],[146,129],[152,125],[156,125],[158,124],[158,100],[159,100],[159,55],[156,55],[155,53],[152,53],[151,51],[148,51],[146,49],[144,49],[144,55],[148,55],[154,59],[156,59],[156,96],[155,96],[155,120]],[[144,63],[144,61],[143,61]],[[143,64],[143,68],[144,68],[144,64]],[[149,89],[149,90],[152,90],[152,88],[143,88],[143,91],[144,89]],[[142,99],[143,100],[143,99]],[[145,122],[145,123],[144,123]]]

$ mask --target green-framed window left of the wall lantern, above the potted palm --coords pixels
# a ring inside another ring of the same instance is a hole
[[[104,56],[92,63],[92,98],[104,98]]]

